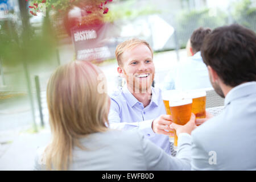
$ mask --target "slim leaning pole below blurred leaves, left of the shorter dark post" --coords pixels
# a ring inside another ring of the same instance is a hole
[[[30,98],[30,105],[31,105],[31,112],[32,112],[32,122],[34,126],[35,132],[38,132],[38,128],[36,127],[36,122],[35,122],[35,110],[34,110],[34,102],[33,102],[33,97],[32,97],[32,89],[31,89],[31,82],[30,82],[30,75],[28,73],[28,68],[27,68],[27,63],[24,61],[24,70],[25,70],[25,75],[27,79],[27,89],[28,89],[28,97]]]

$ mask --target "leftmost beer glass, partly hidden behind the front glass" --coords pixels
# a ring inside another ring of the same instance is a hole
[[[171,115],[169,100],[177,94],[179,94],[179,92],[177,90],[162,91],[162,98],[163,98],[164,107],[166,109],[166,114]],[[173,131],[168,131],[168,132],[174,133]],[[169,141],[174,142],[174,137],[169,137]]]

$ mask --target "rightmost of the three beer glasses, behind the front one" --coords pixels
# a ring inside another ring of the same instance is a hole
[[[192,98],[192,113],[196,118],[205,118],[206,92],[204,90],[193,90],[186,93],[188,98]]]

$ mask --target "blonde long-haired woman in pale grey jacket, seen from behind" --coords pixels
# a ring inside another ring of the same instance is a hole
[[[52,74],[47,85],[52,141],[39,151],[35,169],[189,170],[190,135],[179,135],[173,158],[138,131],[108,129],[105,83],[100,69],[88,61],[72,61]]]

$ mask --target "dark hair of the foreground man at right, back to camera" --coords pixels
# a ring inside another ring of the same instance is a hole
[[[229,86],[256,81],[256,34],[239,24],[218,27],[204,39],[206,65]]]

